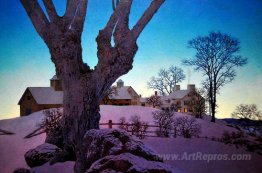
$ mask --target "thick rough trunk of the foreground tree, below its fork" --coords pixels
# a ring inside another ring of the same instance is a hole
[[[64,90],[64,149],[76,155],[74,171],[82,173],[87,169],[83,138],[88,130],[99,128],[99,100],[96,97],[95,83],[86,84],[73,79],[69,81]]]

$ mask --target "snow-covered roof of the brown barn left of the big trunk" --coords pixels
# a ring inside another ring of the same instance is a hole
[[[38,104],[63,104],[63,91],[55,91],[53,87],[28,87],[27,90],[31,92]],[[19,104],[20,102],[21,100]]]

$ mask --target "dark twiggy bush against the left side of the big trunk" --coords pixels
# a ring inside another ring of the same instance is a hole
[[[63,148],[62,116],[60,109],[48,109],[43,111],[45,118],[39,124],[46,132],[46,143],[54,144]]]

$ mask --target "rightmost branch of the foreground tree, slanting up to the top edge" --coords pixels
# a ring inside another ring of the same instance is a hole
[[[136,39],[139,37],[143,29],[146,27],[148,22],[152,19],[154,14],[164,2],[165,0],[153,0],[149,8],[144,12],[143,16],[139,19],[139,21],[132,29],[133,35]]]

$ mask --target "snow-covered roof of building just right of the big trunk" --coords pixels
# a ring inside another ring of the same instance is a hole
[[[138,96],[136,91],[131,86],[116,87],[116,93],[109,96],[109,99],[129,99],[131,100],[133,96]]]

